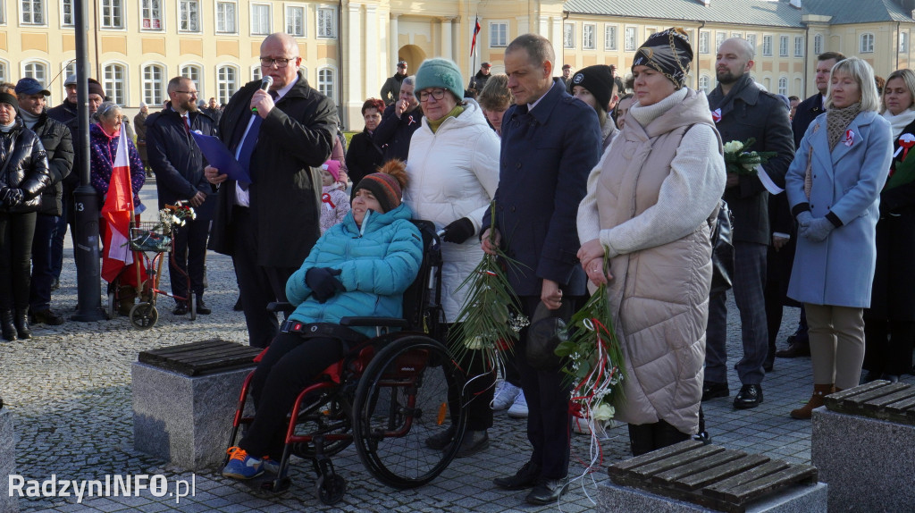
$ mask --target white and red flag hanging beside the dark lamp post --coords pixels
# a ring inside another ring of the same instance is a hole
[[[127,158],[126,131],[121,130],[117,152],[112,164],[112,178],[108,183],[108,196],[102,206],[105,220],[104,252],[102,254],[102,279],[113,282],[124,266],[134,262],[134,253],[127,243],[130,237],[131,215],[134,213],[134,191],[130,183],[130,160]]]

